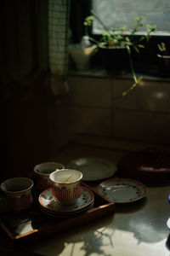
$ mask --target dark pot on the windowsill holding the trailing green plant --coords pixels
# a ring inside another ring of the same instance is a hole
[[[112,48],[99,44],[99,59],[109,73],[126,73],[130,70],[126,47]]]

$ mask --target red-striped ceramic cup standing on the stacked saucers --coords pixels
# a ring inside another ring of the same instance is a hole
[[[82,194],[82,172],[73,169],[55,171],[49,179],[52,182],[53,197],[62,205],[75,203]]]

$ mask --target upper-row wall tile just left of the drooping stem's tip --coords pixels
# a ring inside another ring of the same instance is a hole
[[[69,102],[74,106],[111,108],[111,80],[69,77]]]

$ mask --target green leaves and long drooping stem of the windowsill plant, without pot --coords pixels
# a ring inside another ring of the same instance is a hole
[[[127,32],[127,26],[122,26],[120,27],[120,32],[116,32],[116,28],[111,28],[109,29],[105,23],[100,20],[99,16],[94,13],[93,10],[91,10],[90,16],[88,16],[85,21],[84,21],[84,26],[86,27],[86,34],[88,35],[88,38],[96,44],[96,49],[99,47],[99,44],[101,42],[106,43],[106,45],[109,45],[111,48],[117,48],[117,47],[126,47],[127,48],[127,53],[129,57],[129,65],[130,65],[130,70],[133,76],[133,81],[134,83],[128,88],[127,90],[123,91],[120,96],[114,96],[113,99],[121,98],[122,96],[127,96],[127,94],[132,91],[136,86],[139,84],[139,82],[142,80],[142,77],[137,78],[134,68],[133,68],[133,60],[132,60],[132,55],[131,55],[131,49],[130,47],[133,47],[138,53],[140,48],[144,48],[143,44],[140,44],[142,41],[146,40],[148,41],[150,39],[150,33],[156,31],[156,25],[150,26],[149,24],[146,25],[147,27],[147,32],[146,35],[143,35],[140,37],[138,40],[134,40],[134,34],[139,31],[139,28],[142,27],[144,17],[134,17],[134,20],[136,20],[135,24],[133,25],[133,29],[131,30],[131,34],[128,36],[126,34]],[[88,27],[92,26],[92,22],[94,20],[99,21],[99,23],[103,26],[102,34],[103,38],[100,38],[99,42],[95,40],[92,36],[88,34]]]

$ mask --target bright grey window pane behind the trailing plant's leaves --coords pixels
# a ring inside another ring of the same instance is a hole
[[[169,0],[93,0],[94,13],[104,21],[107,27],[127,25],[133,28],[133,17],[144,16],[144,24],[156,25],[155,35],[170,36],[170,1]],[[98,20],[94,20],[93,33],[101,29]],[[144,31],[141,31],[144,32]]]

